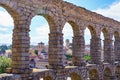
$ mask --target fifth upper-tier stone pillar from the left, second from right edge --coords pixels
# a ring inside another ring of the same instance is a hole
[[[104,40],[104,62],[113,63],[113,40],[105,39]]]

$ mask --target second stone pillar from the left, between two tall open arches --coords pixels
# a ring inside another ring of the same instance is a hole
[[[51,32],[49,34],[49,64],[54,69],[64,68],[63,55],[63,34],[61,32]]]

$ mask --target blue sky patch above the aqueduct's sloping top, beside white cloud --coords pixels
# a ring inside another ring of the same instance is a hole
[[[107,8],[110,4],[118,0],[63,0],[73,3],[77,6],[85,7],[89,10],[96,10],[98,8]]]

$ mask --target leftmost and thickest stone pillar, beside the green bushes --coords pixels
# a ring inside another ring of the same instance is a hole
[[[19,23],[19,22],[18,22]],[[12,41],[12,73],[20,74],[22,80],[27,80],[29,73],[29,28],[23,24],[15,24]]]

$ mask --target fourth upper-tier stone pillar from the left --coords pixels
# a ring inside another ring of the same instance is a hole
[[[90,56],[93,64],[101,63],[101,39],[96,36],[91,39]]]

